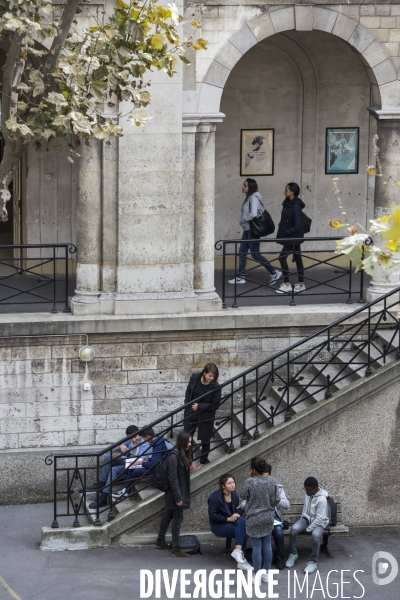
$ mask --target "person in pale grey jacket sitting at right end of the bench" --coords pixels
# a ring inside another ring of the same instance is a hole
[[[290,530],[289,558],[286,567],[291,569],[299,558],[297,554],[297,537],[306,531],[312,537],[312,550],[304,573],[314,573],[318,570],[317,560],[325,527],[329,524],[328,492],[318,484],[315,477],[307,477],[304,482],[305,501],[301,518],[294,523]]]

